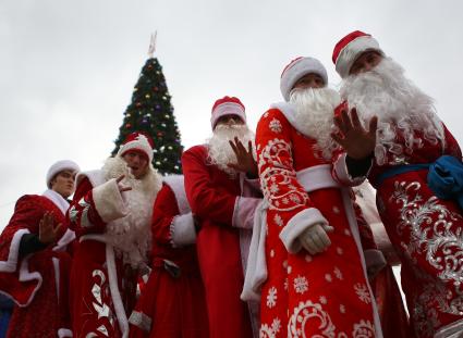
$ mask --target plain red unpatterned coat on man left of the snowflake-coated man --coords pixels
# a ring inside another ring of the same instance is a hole
[[[221,338],[253,337],[249,309],[240,295],[244,280],[242,262],[247,259],[245,250],[251,242],[252,215],[258,199],[243,197],[246,181],[240,181],[241,176],[229,177],[210,165],[207,158],[205,146],[193,147],[183,153],[182,166],[186,197],[200,225],[196,246],[209,334]],[[244,238],[248,238],[247,245],[240,241]]]

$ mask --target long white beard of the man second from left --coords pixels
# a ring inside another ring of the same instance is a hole
[[[145,176],[136,179],[120,157],[109,158],[102,171],[107,180],[125,175],[121,185],[132,188],[123,192],[127,215],[110,222],[106,226],[106,237],[125,264],[131,264],[134,268],[141,267],[146,263],[151,249],[153,204],[161,189],[162,178],[149,163]]]

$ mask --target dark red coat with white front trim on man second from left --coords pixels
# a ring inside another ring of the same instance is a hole
[[[105,242],[102,234],[108,221],[102,215],[109,208],[101,206],[100,196],[95,198],[98,192],[95,188],[101,187],[100,183],[96,179],[92,184],[88,176],[83,177],[69,210],[70,226],[78,239],[70,286],[73,334],[74,337],[101,335],[98,333],[127,337],[126,314],[135,303],[137,272],[114,256],[112,246]]]

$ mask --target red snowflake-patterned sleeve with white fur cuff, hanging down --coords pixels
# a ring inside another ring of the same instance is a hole
[[[277,109],[264,114],[257,125],[256,146],[260,187],[289,252],[302,246],[298,236],[315,224],[328,224],[296,178],[293,164],[293,127]],[[270,225],[269,225],[270,226]]]

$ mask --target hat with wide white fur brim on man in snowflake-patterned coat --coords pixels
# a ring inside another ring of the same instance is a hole
[[[290,100],[290,92],[297,80],[310,73],[321,76],[325,85],[328,84],[327,70],[317,59],[298,57],[284,67],[280,78],[280,90],[285,101]]]

